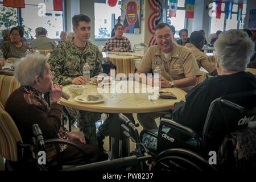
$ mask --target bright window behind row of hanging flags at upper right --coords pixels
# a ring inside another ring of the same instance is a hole
[[[217,30],[227,31],[230,29],[243,29],[245,24],[246,4],[243,4],[242,20],[237,20],[237,7],[238,5],[233,4],[232,19],[225,18],[225,3],[221,5],[221,18],[216,17],[210,18],[210,34],[215,34]]]

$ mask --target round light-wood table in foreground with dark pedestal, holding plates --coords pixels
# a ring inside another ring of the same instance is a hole
[[[131,86],[131,84],[134,85]],[[73,85],[64,86],[63,91],[69,93],[68,88],[70,86]],[[139,92],[142,92],[141,90],[148,88],[148,85],[135,81],[112,81],[111,84],[106,84],[103,88],[105,88],[106,92],[109,92],[102,93],[102,96],[106,99],[105,101],[95,104],[85,104],[70,97],[68,100],[61,98],[61,103],[64,106],[79,110],[109,114],[109,136],[112,159],[129,155],[129,139],[124,140],[123,138],[118,113],[152,113],[156,111],[170,110],[174,108],[175,102],[185,100],[186,95],[186,93],[179,88],[164,88],[160,89],[160,91],[171,92],[175,94],[176,99],[158,98],[156,100],[149,100],[147,93],[133,93],[136,89],[137,91],[140,90]],[[125,90],[127,93],[125,93]],[[97,86],[94,84],[87,84],[84,85],[84,92],[81,96],[86,97],[88,94],[95,93],[98,93]],[[121,150],[121,148],[123,149]]]

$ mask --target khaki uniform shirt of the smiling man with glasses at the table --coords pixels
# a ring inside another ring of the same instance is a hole
[[[156,67],[160,68],[162,76],[168,81],[201,75],[193,53],[188,48],[176,43],[167,59],[158,46],[148,48],[139,64],[138,71],[148,73],[151,70],[154,71]]]

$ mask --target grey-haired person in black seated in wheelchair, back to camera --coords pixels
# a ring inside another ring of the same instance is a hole
[[[203,131],[213,100],[226,94],[256,89],[256,77],[245,72],[254,52],[254,43],[245,32],[222,32],[214,48],[218,76],[201,82],[187,94],[185,102],[174,105],[173,120],[199,133]]]

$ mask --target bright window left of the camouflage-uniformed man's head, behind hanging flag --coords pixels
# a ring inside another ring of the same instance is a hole
[[[44,3],[46,5],[46,15],[39,16],[38,12],[40,7],[39,3]],[[60,32],[63,31],[63,11],[54,11],[53,10],[53,0],[26,0],[26,6],[24,9],[21,9],[23,26],[31,28],[30,36],[35,37],[35,29],[37,27],[44,27],[48,31],[48,38],[59,39]]]

